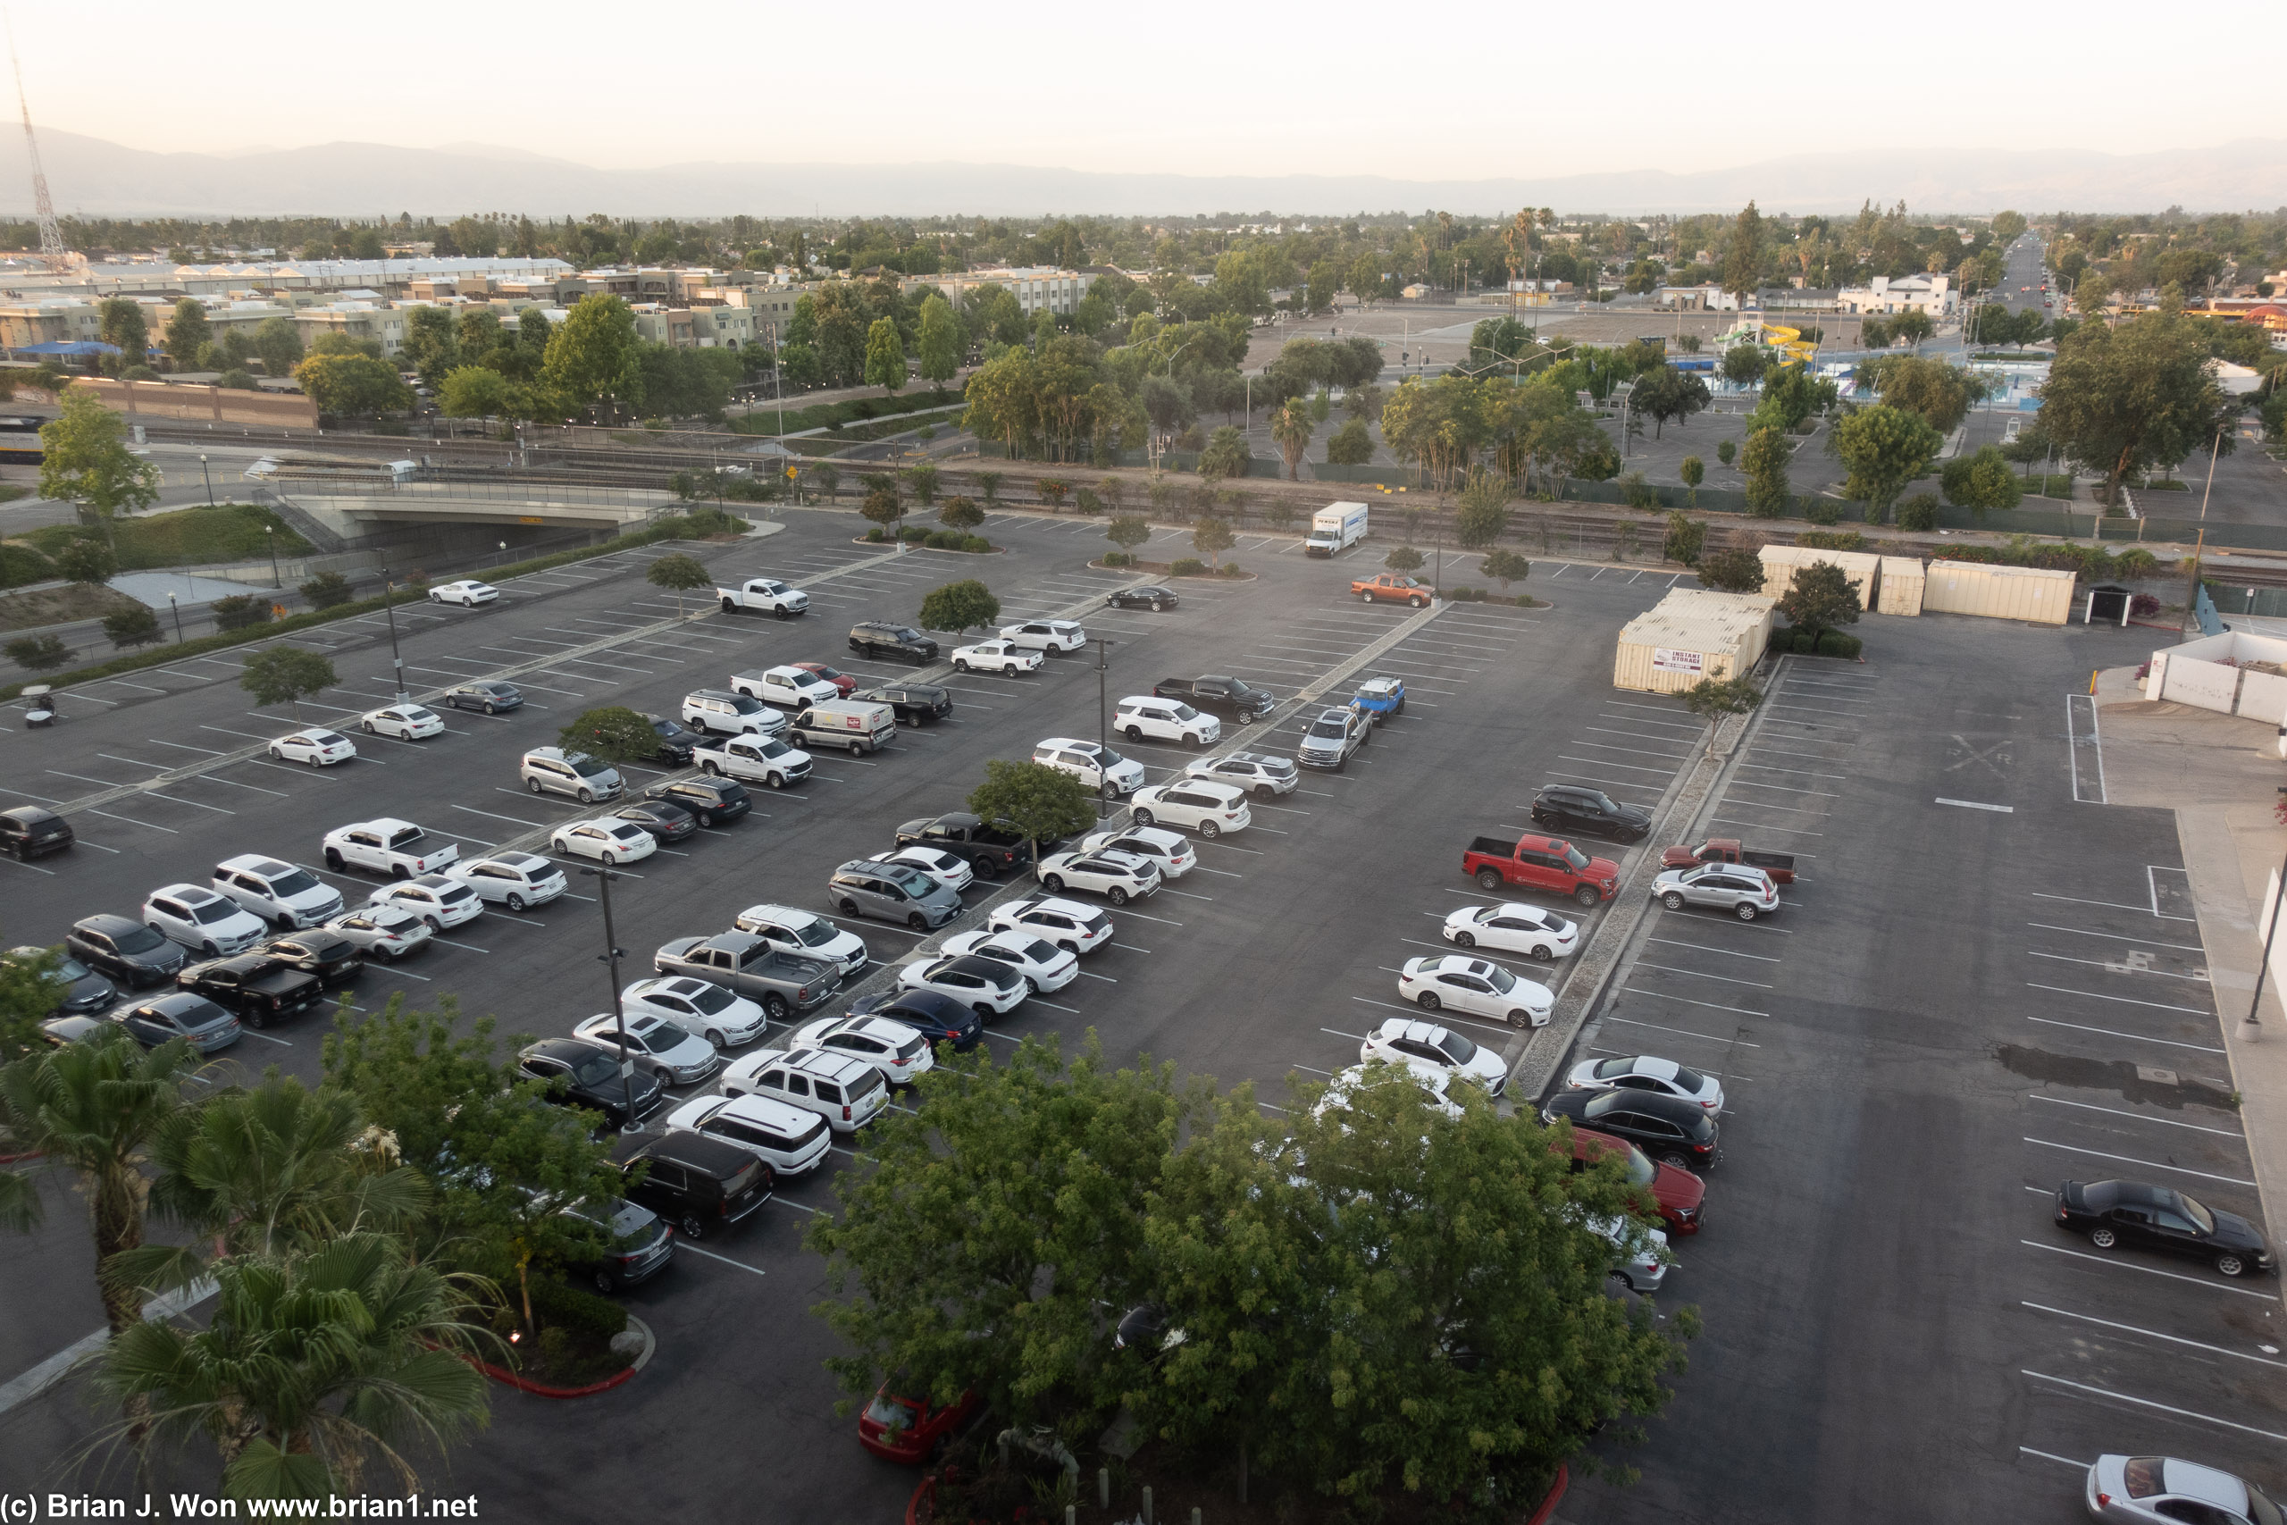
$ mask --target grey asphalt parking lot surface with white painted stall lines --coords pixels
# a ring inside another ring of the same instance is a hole
[[[50,732],[0,716],[11,803],[117,791],[75,814],[78,853],[0,862],[7,940],[53,942],[82,915],[135,912],[153,887],[204,883],[236,853],[322,871],[318,839],[357,819],[419,821],[464,855],[533,846],[583,812],[524,793],[517,754],[551,743],[581,709],[672,713],[691,688],[787,661],[906,677],[846,665],[848,624],[910,620],[929,588],[979,576],[1009,617],[1079,617],[1109,636],[1102,693],[1114,704],[1194,672],[1237,672],[1283,700],[1262,727],[1228,727],[1226,745],[1290,752],[1308,700],[1347,700],[1374,672],[1407,679],[1407,713],[1377,727],[1347,771],[1304,771],[1294,793],[1253,803],[1251,828],[1194,839],[1198,869],[1109,912],[1116,940],[1086,958],[1086,979],[990,1029],[995,1045],[1095,1029],[1118,1059],[1253,1079],[1278,1109],[1290,1079],[1356,1063],[1374,1024],[1416,1011],[1397,969],[1448,951],[1439,924],[1491,899],[1461,876],[1471,837],[1530,830],[1532,793],[1548,782],[1658,805],[1704,745],[1674,700],[1610,686],[1617,629],[1674,572],[1548,562],[1525,583],[1546,608],[1413,613],[1345,597],[1352,569],[1374,565],[1365,551],[1329,567],[1290,535],[1246,535],[1233,556],[1258,581],[1182,583],[1182,606],[1153,615],[1102,610],[1137,578],[1086,567],[1107,544],[1095,521],[995,514],[983,533],[1009,551],[988,558],[853,544],[858,524],[791,510],[771,537],[702,549],[718,581],[805,585],[812,613],[794,622],[711,610],[675,622],[672,594],[640,578],[663,546],[519,578],[476,610],[400,610],[416,693],[508,672],[528,704],[446,711],[448,732],[428,743],[357,736],[364,754],[332,771],[236,757],[288,722],[249,711],[233,663],[133,674],[135,688],[98,688],[107,704],[78,704]],[[1182,530],[1144,549],[1182,553]],[[1448,567],[1448,581],[1459,576]],[[2127,647],[2106,642],[2127,638],[1935,617],[1864,633],[1866,665],[1782,663],[1706,809],[1708,832],[1798,855],[1782,915],[1740,924],[1654,910],[1580,1038],[1583,1054],[1654,1052],[1713,1070],[1731,1109],[1708,1230],[1676,1241],[1665,1299],[1699,1303],[1708,1333],[1670,1418],[1621,1456],[1644,1482],[1583,1484],[1569,1520],[2063,1520],[2077,1479],[2056,1459],[2159,1447],[2264,1475],[2269,1431],[2287,1434],[2266,1397],[2278,1360],[2255,1340],[2278,1308],[2273,1283],[2093,1255],[2049,1223],[2047,1193],[2065,1175],[2161,1173],[2216,1207],[2255,1207],[2228,1095],[2207,1084],[2223,1070],[2198,928],[2168,919],[2189,915],[2168,878],[2173,825],[2102,807],[2097,748],[2070,741],[2065,693],[2118,661]],[[306,636],[332,645],[343,681],[304,718],[350,725],[391,697],[387,629]],[[627,871],[613,903],[638,965],[627,979],[661,942],[720,931],[746,905],[828,910],[835,864],[890,848],[901,821],[958,809],[986,759],[1098,727],[1089,654],[1027,677],[947,681],[949,720],[908,727],[874,757],[816,754],[800,784],[755,789],[755,816]],[[1194,757],[1116,745],[1150,782]],[[137,787],[185,759],[190,775]],[[659,773],[629,777],[640,787]],[[1626,867],[1658,846],[1592,851]],[[380,883],[327,880],[352,901]],[[1018,892],[1011,880],[972,887],[945,933],[979,926]],[[496,1013],[503,1031],[567,1033],[608,1008],[588,894],[574,878],[551,905],[487,910],[441,947],[370,969],[354,1001],[453,995],[471,1015]],[[1555,910],[1585,933],[1612,915]],[[842,997],[945,935],[855,931],[876,965]],[[1498,963],[1560,990],[1571,967]],[[1450,1024],[1496,1052],[1516,1043],[1491,1022]],[[313,1079],[320,1033],[316,1020],[249,1031],[226,1059]],[[581,1452],[595,1514],[711,1511],[750,1484],[762,1431],[778,1498],[803,1500],[805,1514],[887,1518],[913,1475],[860,1452],[855,1420],[832,1413],[837,1390],[819,1365],[832,1347],[807,1312],[826,1287],[798,1239],[830,1207],[821,1171],[784,1182],[723,1239],[684,1244],[666,1276],[627,1294],[659,1335],[652,1367],[585,1404],[496,1388],[492,1429],[455,1452],[451,1486],[537,1514],[565,1482],[565,1440],[608,1436],[617,1445]],[[25,1308],[0,1324],[0,1381],[101,1324],[69,1196],[50,1200],[39,1235],[0,1239],[0,1276]],[[85,1427],[69,1388],[16,1404],[0,1413],[0,1472],[46,1475]]]

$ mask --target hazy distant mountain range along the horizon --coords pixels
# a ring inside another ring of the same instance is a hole
[[[1388,176],[1100,174],[1027,165],[682,162],[595,169],[524,149],[396,149],[334,142],[236,153],[149,153],[43,130],[48,185],[64,213],[114,217],[318,215],[400,210],[583,217],[787,215],[1137,215],[1329,217],[1427,210],[1727,213],[1752,197],[1772,213],[1850,213],[1905,201],[1917,213],[2157,213],[2182,206],[2287,206],[2287,139],[2161,153],[1875,151],[1804,153],[1738,169],[1429,181]],[[23,144],[0,135],[0,213],[23,217],[32,183]]]

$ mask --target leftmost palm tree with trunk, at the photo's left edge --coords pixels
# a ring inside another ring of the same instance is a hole
[[[197,1056],[181,1038],[144,1052],[126,1029],[32,1054],[0,1070],[0,1152],[78,1177],[96,1264],[142,1244],[151,1143],[183,1111]],[[41,1219],[34,1171],[0,1171],[0,1223]],[[142,1294],[103,1280],[103,1319],[119,1335],[142,1322]]]

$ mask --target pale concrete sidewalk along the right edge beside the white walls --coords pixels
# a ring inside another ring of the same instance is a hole
[[[2104,798],[2109,805],[2175,812],[2207,949],[2216,1027],[2239,1095],[2266,1232],[2278,1244],[2287,1232],[2287,1004],[2276,981],[2264,981],[2255,1027],[2246,1015],[2264,953],[2264,899],[2271,876],[2287,860],[2287,825],[2273,816],[2287,761],[2278,754],[2273,727],[2145,700],[2134,672],[2113,668],[2097,679]]]

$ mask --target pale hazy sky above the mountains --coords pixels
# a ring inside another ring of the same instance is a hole
[[[1507,9],[1507,7],[1493,7]],[[972,160],[1162,174],[1548,176],[1786,153],[2136,153],[2276,137],[2255,39],[2081,7],[1647,0],[16,7],[32,117],[151,151],[480,142],[627,169]],[[2157,27],[2157,30],[2154,30]],[[2230,43],[2250,39],[2237,55]],[[101,59],[101,69],[96,69]],[[2250,73],[2253,71],[2253,73]]]

